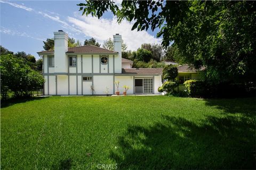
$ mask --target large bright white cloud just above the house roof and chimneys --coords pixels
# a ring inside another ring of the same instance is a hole
[[[118,24],[116,18],[98,19],[92,16],[77,16],[77,18],[73,18],[68,16],[68,21],[74,24],[77,29],[81,30],[85,36],[93,37],[100,43],[108,38],[112,38],[116,33],[119,33],[122,35],[128,49],[131,50],[137,50],[143,43],[160,44],[162,41],[162,39],[151,36],[145,30],[131,31],[132,23],[124,20],[121,24]]]

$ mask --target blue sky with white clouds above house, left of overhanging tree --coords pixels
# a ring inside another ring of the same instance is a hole
[[[122,35],[128,49],[136,50],[142,43],[161,43],[158,30],[131,31],[132,23],[116,22],[111,13],[103,18],[82,16],[76,5],[84,1],[0,1],[1,45],[13,52],[24,51],[39,56],[43,40],[52,38],[53,32],[63,30],[69,37],[84,42],[95,38],[100,44],[115,33]],[[117,1],[117,4],[120,2]]]

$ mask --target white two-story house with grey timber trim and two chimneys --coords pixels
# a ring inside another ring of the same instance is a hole
[[[38,52],[43,58],[45,95],[104,95],[129,86],[127,94],[159,94],[162,69],[132,68],[132,61],[122,58],[122,36],[114,35],[114,50],[92,45],[68,47],[67,33],[54,32],[54,50]],[[95,90],[93,92],[92,90]]]

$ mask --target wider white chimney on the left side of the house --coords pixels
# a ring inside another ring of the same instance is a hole
[[[54,32],[54,70],[55,73],[68,72],[68,60],[66,52],[68,51],[68,35],[59,30]]]

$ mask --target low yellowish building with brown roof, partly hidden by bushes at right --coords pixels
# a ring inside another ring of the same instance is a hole
[[[185,90],[185,84],[183,84],[186,80],[194,79],[198,80],[202,78],[203,70],[195,70],[190,68],[187,64],[178,66],[178,77],[177,80],[179,81],[179,86],[177,88],[178,91]]]

